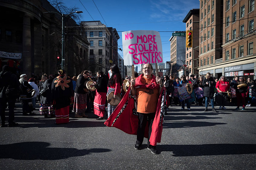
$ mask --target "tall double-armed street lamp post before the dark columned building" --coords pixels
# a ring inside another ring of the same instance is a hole
[[[65,19],[74,13],[83,13],[83,11],[75,11],[75,12],[71,12],[70,14],[60,14],[58,12],[43,12],[43,13],[56,13],[58,15],[60,15],[62,17],[62,31],[61,31],[61,43],[62,43],[62,47],[61,47],[61,69],[65,69],[65,34],[64,34],[64,23],[65,23]]]

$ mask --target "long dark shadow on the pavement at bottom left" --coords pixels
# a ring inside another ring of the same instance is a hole
[[[18,160],[59,160],[75,156],[84,156],[91,153],[109,152],[106,148],[76,149],[51,148],[47,142],[21,142],[0,145],[0,159]]]

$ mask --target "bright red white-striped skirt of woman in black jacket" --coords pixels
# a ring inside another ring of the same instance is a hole
[[[107,93],[98,92],[96,90],[94,98],[94,114],[97,116],[103,117],[105,113],[105,104],[106,104]]]

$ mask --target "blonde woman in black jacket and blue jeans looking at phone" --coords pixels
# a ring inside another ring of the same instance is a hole
[[[205,112],[208,111],[208,99],[211,99],[211,108],[213,112],[218,112],[214,109],[214,87],[216,83],[211,76],[211,73],[206,73],[205,78],[203,79],[203,96],[205,97]]]

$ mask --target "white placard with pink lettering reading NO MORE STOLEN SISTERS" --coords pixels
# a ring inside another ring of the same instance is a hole
[[[136,30],[122,32],[124,65],[163,63],[159,32]]]

